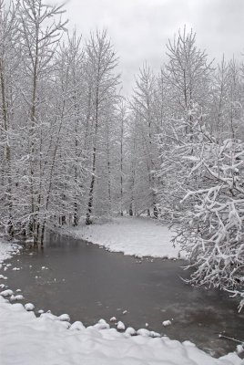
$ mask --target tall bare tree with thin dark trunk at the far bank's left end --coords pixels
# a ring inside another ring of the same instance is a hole
[[[114,74],[117,66],[117,56],[107,39],[107,32],[90,36],[86,45],[87,72],[92,79],[92,177],[88,189],[86,224],[91,224],[91,214],[94,204],[94,190],[97,174],[97,155],[99,153],[98,139],[101,124],[107,123],[107,104],[117,99],[118,76]],[[108,117],[109,118],[109,117]]]

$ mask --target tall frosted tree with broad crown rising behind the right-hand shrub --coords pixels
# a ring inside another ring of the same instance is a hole
[[[212,68],[207,54],[196,46],[193,32],[179,31],[168,41],[168,63],[163,71],[167,92],[167,113],[158,133],[161,155],[160,203],[164,218],[178,214],[179,201],[188,185],[188,166],[178,158],[194,151],[194,112],[208,113]],[[206,123],[209,129],[208,123]]]

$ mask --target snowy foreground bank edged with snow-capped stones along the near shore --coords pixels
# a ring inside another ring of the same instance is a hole
[[[0,263],[18,251],[16,245],[1,243]],[[0,265],[2,265],[0,264]],[[1,365],[243,365],[236,353],[211,358],[189,341],[182,344],[156,333],[127,328],[118,332],[101,319],[85,328],[69,323],[68,315],[43,313],[36,318],[31,304],[10,304],[15,295],[7,288],[0,270],[0,364]],[[25,304],[25,303],[24,303]],[[153,337],[155,336],[155,338]]]

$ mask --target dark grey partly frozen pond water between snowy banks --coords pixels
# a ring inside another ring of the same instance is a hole
[[[23,303],[34,303],[36,311],[68,313],[72,321],[85,325],[114,316],[136,329],[147,323],[150,330],[188,339],[215,356],[237,345],[219,339],[219,332],[244,340],[244,313],[238,313],[237,300],[224,292],[186,285],[180,279],[188,276],[182,261],[139,260],[53,236],[43,250],[25,247],[9,263],[7,285],[21,288]],[[21,270],[13,271],[15,266]],[[164,328],[162,321],[171,318],[172,325]]]

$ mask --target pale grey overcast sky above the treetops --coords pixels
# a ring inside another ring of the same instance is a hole
[[[244,0],[69,0],[69,29],[88,36],[106,28],[117,55],[125,92],[147,60],[158,71],[166,43],[184,25],[197,33],[209,58],[244,53]],[[244,58],[244,57],[243,57]]]

